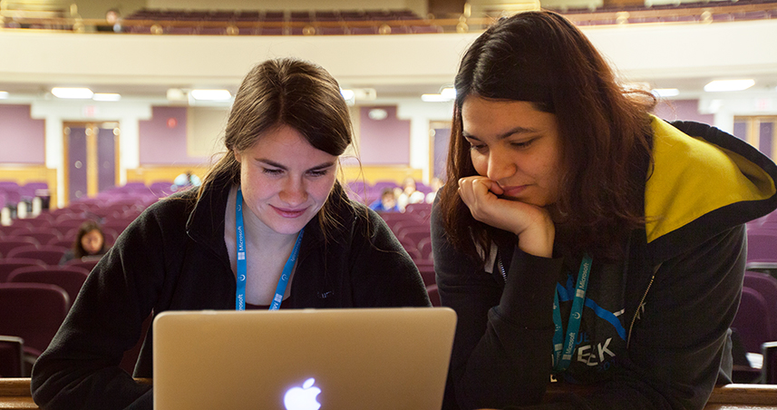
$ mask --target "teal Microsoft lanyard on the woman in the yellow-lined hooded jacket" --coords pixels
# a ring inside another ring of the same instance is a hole
[[[591,273],[591,257],[583,256],[578,272],[578,287],[575,288],[575,299],[572,301],[572,310],[569,311],[567,323],[567,339],[564,339],[564,327],[561,324],[561,311],[558,307],[558,290],[553,298],[553,323],[556,325],[556,333],[553,334],[553,370],[560,373],[567,370],[572,361],[572,353],[575,352],[575,340],[578,338],[580,320],[583,317],[583,305],[586,301],[586,289]]]

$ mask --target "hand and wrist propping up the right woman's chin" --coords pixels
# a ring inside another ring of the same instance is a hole
[[[518,247],[524,252],[550,258],[556,227],[548,210],[519,200],[501,199],[502,193],[499,184],[486,177],[459,180],[459,196],[472,218],[518,235]]]

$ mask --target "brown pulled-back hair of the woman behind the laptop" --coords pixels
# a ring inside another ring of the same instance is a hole
[[[353,135],[340,87],[324,68],[291,58],[259,63],[240,84],[227,122],[227,152],[203,179],[198,198],[213,181],[222,178],[238,185],[240,163],[233,153],[248,150],[281,125],[294,128],[314,148],[337,157],[345,152]],[[343,195],[345,200],[343,190],[333,188],[333,192]],[[330,192],[330,198],[318,211],[323,232],[339,223],[331,197]]]

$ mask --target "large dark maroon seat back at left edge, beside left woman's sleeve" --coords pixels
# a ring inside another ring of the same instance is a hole
[[[70,299],[56,285],[0,283],[0,334],[22,337],[35,356],[51,343],[67,315]]]

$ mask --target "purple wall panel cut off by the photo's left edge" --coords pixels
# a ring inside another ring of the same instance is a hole
[[[46,134],[44,120],[30,118],[29,105],[0,104],[0,163],[44,164]]]

